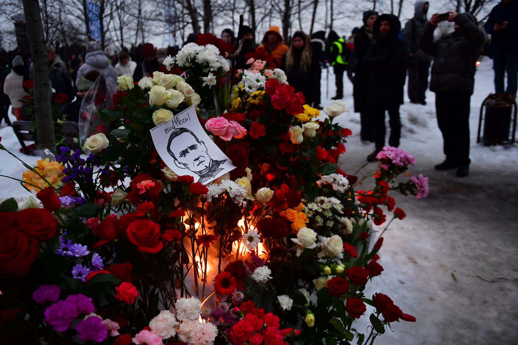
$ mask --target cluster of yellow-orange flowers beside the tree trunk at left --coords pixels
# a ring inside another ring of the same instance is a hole
[[[25,182],[25,187],[27,187],[27,189],[34,189],[38,192],[40,189],[49,187],[48,183],[50,183],[54,188],[63,184],[61,179],[65,177],[65,174],[63,174],[63,169],[65,169],[65,167],[60,163],[56,161],[51,162],[48,158],[40,159],[37,161],[37,166],[34,167],[34,169],[38,173],[26,170],[22,175],[23,182]]]

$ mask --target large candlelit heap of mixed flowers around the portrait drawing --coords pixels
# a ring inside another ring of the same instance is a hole
[[[338,168],[351,132],[333,119],[347,108],[335,102],[316,120],[303,95],[265,77],[265,59],[250,62],[236,104],[204,118],[196,95],[219,86],[203,86],[204,77],[191,84],[203,72],[196,64],[206,72],[209,61],[224,64],[224,46],[213,44],[217,56],[210,42],[219,41],[204,37],[190,46],[196,53],[184,72],[169,66],[138,86],[119,78],[116,106],[99,111],[114,129],[91,136],[88,155],[61,147],[55,161],[13,176],[43,208],[34,199],[0,204],[3,336],[370,344],[391,323],[415,321],[388,296],[364,294],[384,272],[384,229],[406,216],[389,193],[427,194],[427,178],[405,179],[413,158],[385,147],[373,187],[359,190],[358,178]],[[189,106],[236,167],[206,185],[168,167],[150,135]],[[353,325],[367,305],[376,310],[364,334]]]

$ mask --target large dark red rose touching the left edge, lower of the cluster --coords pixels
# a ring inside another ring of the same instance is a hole
[[[38,252],[36,238],[19,227],[0,232],[0,275],[25,276]]]

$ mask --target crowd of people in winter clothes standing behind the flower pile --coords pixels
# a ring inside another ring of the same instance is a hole
[[[249,26],[241,27],[240,37],[236,38],[229,28],[224,29],[220,37],[236,47],[236,40],[241,42],[241,51],[235,58],[236,69],[247,68],[246,54],[264,48],[271,55],[272,66],[269,67],[283,69],[289,84],[317,109],[322,109],[322,69],[332,67],[335,74],[334,100],[343,98],[343,74],[347,73],[353,84],[354,111],[361,120],[361,140],[375,144],[374,151],[367,156],[369,161],[376,160],[385,145],[385,113],[389,114],[388,143],[399,146],[399,107],[404,103],[407,75],[410,102],[426,104],[433,61],[429,87],[436,93],[437,121],[446,156],[435,168],[457,169],[456,175],[463,177],[469,173],[469,113],[476,61],[487,37],[470,13],[435,13],[428,21],[428,8],[427,1],[417,0],[414,16],[404,29],[393,14],[365,11],[364,25],[355,27],[347,39],[334,31],[330,31],[327,38],[324,31],[310,36],[297,31],[292,37],[283,38],[277,26],[266,31],[258,47]],[[453,22],[454,32],[434,40],[434,30],[440,21]],[[483,28],[492,39],[495,91],[507,93],[509,102],[513,103],[518,69],[518,0],[502,0],[493,8]],[[184,44],[195,40],[196,35],[190,34]],[[99,75],[111,83],[116,83],[117,77],[122,75],[131,76],[134,81],[151,77],[153,72],[163,68],[164,58],[174,56],[178,50],[178,47],[157,50],[151,43],[145,43],[108,56],[97,42],[91,41],[84,52],[70,56],[65,63],[56,55],[55,48],[49,47],[53,95],[65,94],[68,102],[75,102],[75,106],[68,109],[67,119],[77,121],[81,99]],[[10,103],[16,118],[26,119],[19,100],[28,95],[23,82],[32,79],[32,64],[16,55],[12,62],[2,61],[2,67],[2,115],[8,120],[5,114]],[[506,72],[507,88],[504,87]]]

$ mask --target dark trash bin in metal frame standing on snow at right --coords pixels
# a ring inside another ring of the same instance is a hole
[[[508,94],[491,94],[487,96],[480,106],[479,130],[477,134],[477,143],[481,142],[485,146],[512,144],[515,140],[516,132],[516,102],[509,103]],[[485,108],[485,116],[483,110]],[[509,139],[509,131],[511,130],[511,115],[513,126],[511,139]],[[480,130],[484,120],[484,130],[482,140],[480,138]]]

